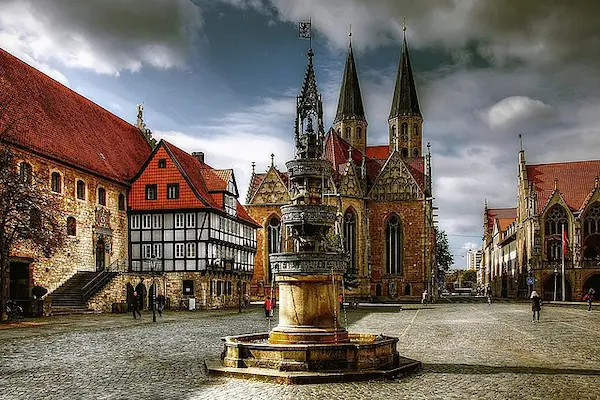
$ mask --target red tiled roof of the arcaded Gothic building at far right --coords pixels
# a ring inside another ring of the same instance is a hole
[[[527,165],[527,179],[535,185],[537,210],[543,211],[552,192],[554,179],[572,211],[579,210],[600,176],[600,160]]]

